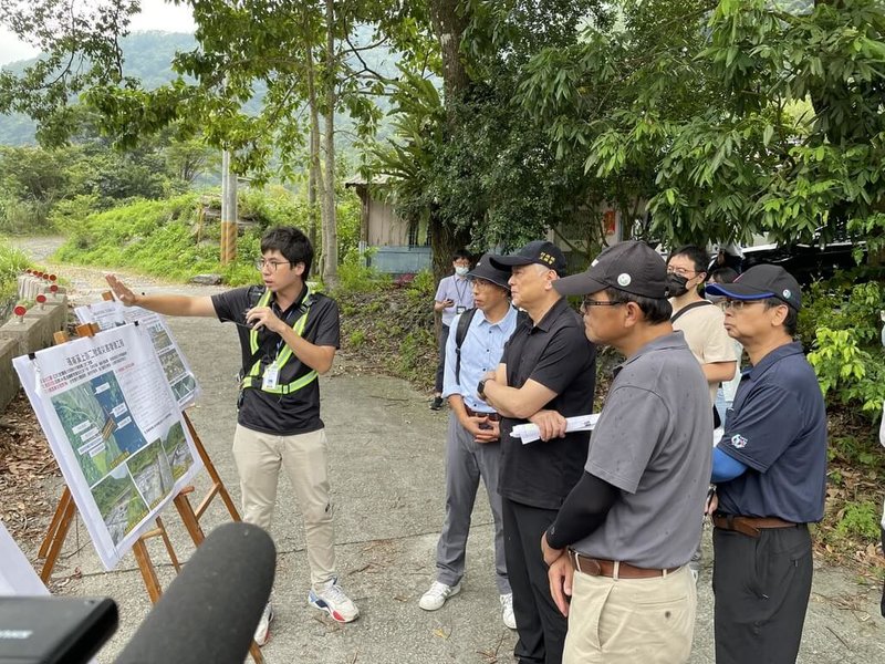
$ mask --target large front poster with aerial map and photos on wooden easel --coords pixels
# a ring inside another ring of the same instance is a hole
[[[12,363],[111,570],[202,467],[149,335],[123,325]]]

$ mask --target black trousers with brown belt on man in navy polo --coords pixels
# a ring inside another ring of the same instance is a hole
[[[795,662],[811,594],[806,526],[758,538],[714,529],[716,664]]]

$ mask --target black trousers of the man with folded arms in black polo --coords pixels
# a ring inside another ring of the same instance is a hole
[[[541,554],[541,536],[556,511],[502,499],[504,559],[519,633],[513,654],[520,664],[562,662],[569,622],[550,595],[548,568]]]

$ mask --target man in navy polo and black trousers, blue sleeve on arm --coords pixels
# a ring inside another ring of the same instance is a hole
[[[714,450],[717,664],[794,662],[811,593],[808,523],[823,518],[826,413],[814,371],[793,342],[799,283],[757,266],[725,295],[725,326],[750,357]]]

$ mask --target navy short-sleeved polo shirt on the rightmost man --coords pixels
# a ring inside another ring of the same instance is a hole
[[[823,518],[826,411],[800,344],[774,349],[743,372],[718,447],[748,466],[718,485],[720,511],[795,523]]]

